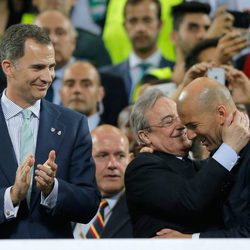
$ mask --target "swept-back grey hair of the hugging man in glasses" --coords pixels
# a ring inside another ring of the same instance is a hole
[[[164,93],[159,89],[146,90],[134,104],[130,115],[130,126],[134,137],[139,144],[145,144],[139,137],[139,131],[149,127],[149,123],[145,117],[145,113],[151,108],[155,102],[165,97]]]

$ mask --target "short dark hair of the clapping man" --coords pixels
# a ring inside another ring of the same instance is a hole
[[[37,25],[15,24],[4,33],[0,43],[0,60],[15,61],[24,55],[24,45],[27,39],[33,39],[39,44],[52,44],[48,34]]]

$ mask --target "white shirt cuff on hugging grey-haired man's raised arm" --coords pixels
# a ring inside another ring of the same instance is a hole
[[[222,143],[212,158],[219,162],[228,171],[231,171],[239,157],[230,146]]]

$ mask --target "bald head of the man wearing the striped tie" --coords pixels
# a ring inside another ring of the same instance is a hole
[[[101,125],[92,130],[96,182],[104,197],[124,188],[124,173],[130,161],[127,137],[116,127]]]

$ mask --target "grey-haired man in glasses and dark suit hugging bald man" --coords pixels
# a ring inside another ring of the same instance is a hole
[[[224,143],[201,168],[186,158],[191,143],[175,102],[159,90],[149,90],[138,99],[131,126],[137,141],[154,152],[139,154],[125,173],[135,237],[154,237],[163,228],[195,233],[223,227],[220,206],[230,170],[249,140],[248,120],[243,126],[241,118],[246,119],[238,112],[230,126],[224,124]]]

